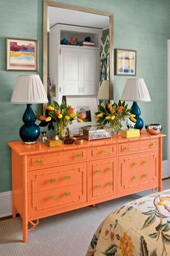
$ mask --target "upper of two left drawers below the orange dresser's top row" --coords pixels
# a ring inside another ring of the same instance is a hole
[[[45,168],[28,173],[28,193],[86,183],[86,163]]]

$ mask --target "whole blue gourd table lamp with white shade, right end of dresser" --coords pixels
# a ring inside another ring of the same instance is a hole
[[[135,129],[143,128],[143,119],[140,118],[140,108],[137,101],[151,101],[146,82],[143,78],[128,79],[125,82],[125,87],[122,92],[122,101],[133,101],[133,106],[130,108],[130,113],[135,114]]]

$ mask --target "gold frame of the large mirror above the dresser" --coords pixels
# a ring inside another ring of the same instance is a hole
[[[103,12],[96,9],[74,6],[71,4],[63,4],[60,2],[47,1],[43,2],[43,85],[45,86],[45,91],[48,90],[48,31],[47,31],[47,18],[48,18],[48,7],[58,7],[63,9],[71,9],[79,12],[89,12],[91,14],[99,14],[109,17],[109,100],[114,98],[113,90],[113,70],[114,70],[114,58],[113,58],[113,13]]]

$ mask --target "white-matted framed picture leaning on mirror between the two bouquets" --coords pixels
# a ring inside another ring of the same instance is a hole
[[[97,112],[97,95],[68,95],[63,96],[63,99],[67,105],[74,108],[74,112],[81,111],[86,114],[83,123],[75,119],[73,124],[68,125],[70,136],[81,136],[81,127],[97,124],[97,118],[94,115]]]

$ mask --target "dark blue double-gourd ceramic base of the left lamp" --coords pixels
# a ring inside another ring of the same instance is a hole
[[[27,108],[22,116],[24,124],[19,129],[19,136],[24,144],[35,144],[37,138],[40,136],[40,127],[35,124],[36,117],[32,110],[32,104],[27,104]]]

